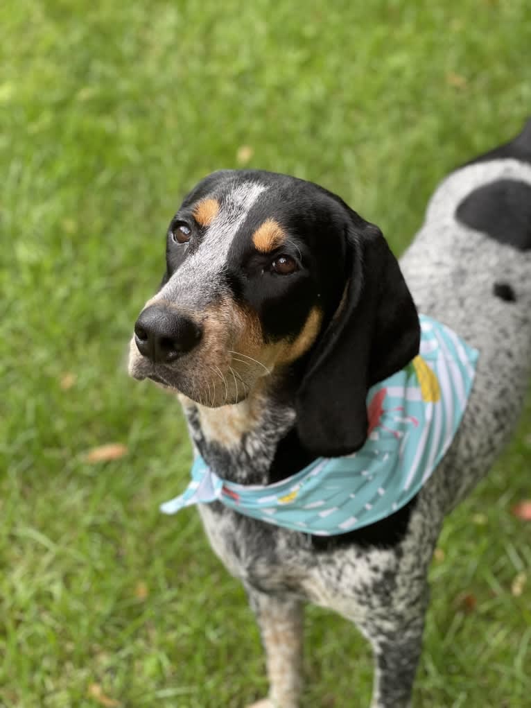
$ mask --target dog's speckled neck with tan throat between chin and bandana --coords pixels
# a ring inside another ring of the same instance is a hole
[[[180,396],[196,450],[223,479],[271,484],[311,462],[294,428],[295,392],[286,389],[285,377],[268,377],[244,401],[219,408]]]

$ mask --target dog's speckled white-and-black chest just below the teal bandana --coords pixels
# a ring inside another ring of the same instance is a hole
[[[394,586],[399,556],[348,546],[316,552],[304,534],[246,518],[221,505],[200,505],[212,549],[248,590],[291,595],[362,621],[369,603]]]

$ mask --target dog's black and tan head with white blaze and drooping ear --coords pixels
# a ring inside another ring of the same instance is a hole
[[[419,337],[377,227],[312,183],[221,171],[171,219],[130,373],[215,407],[297,371],[299,438],[342,455],[365,441],[367,390],[418,353]]]

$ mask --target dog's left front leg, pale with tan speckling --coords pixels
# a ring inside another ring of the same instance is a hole
[[[268,698],[249,708],[298,708],[302,689],[302,603],[247,589],[262,635],[270,685]]]

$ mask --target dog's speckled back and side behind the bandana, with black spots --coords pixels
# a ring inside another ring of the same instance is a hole
[[[467,413],[445,457],[454,506],[489,468],[518,418],[531,365],[531,120],[450,174],[401,268],[420,312],[479,350]]]

